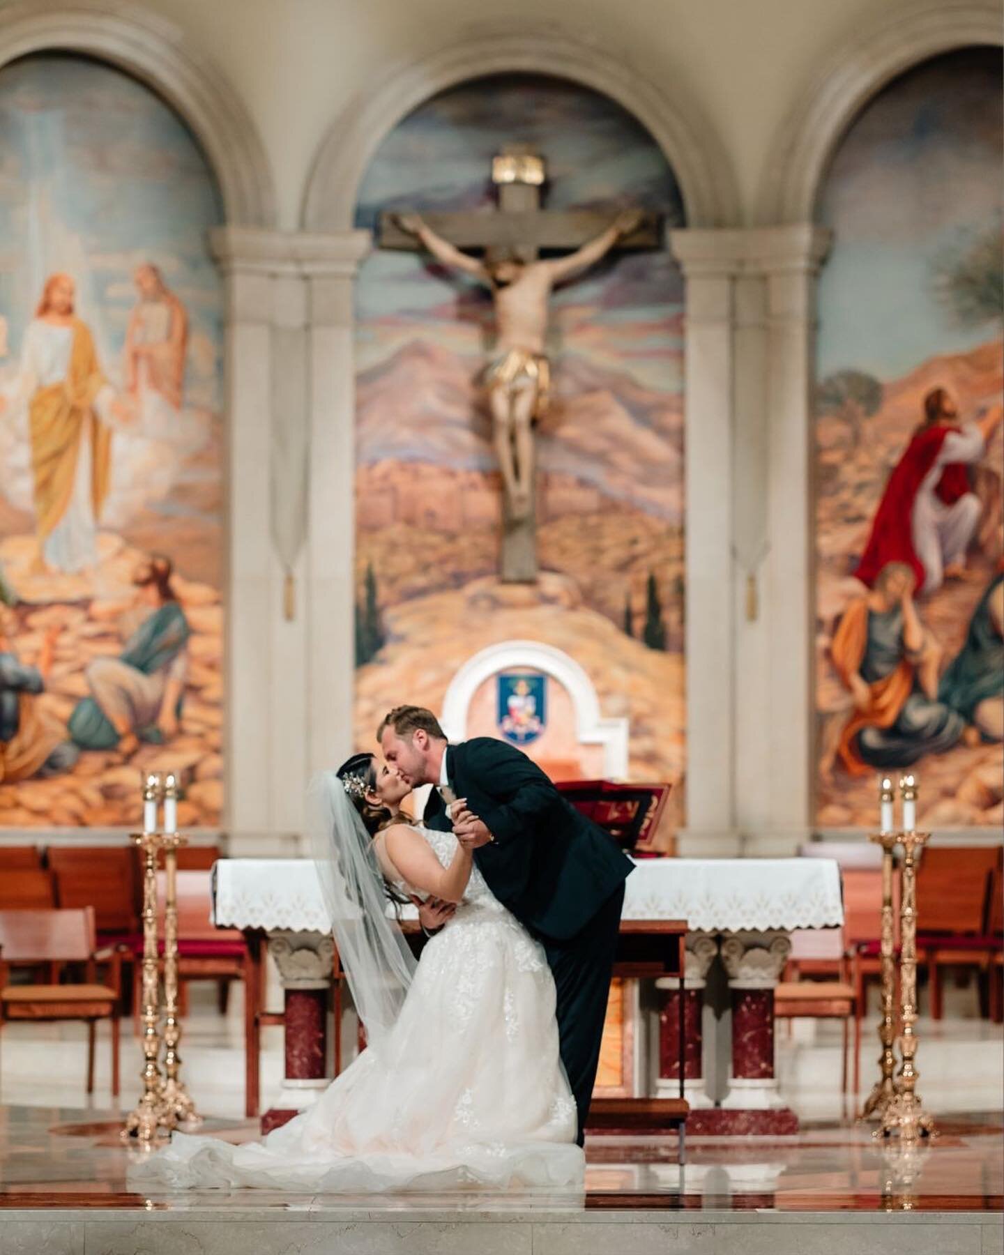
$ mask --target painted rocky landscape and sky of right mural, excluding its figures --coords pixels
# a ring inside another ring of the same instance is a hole
[[[890,473],[934,389],[954,398],[961,424],[988,422],[1000,407],[1000,59],[989,49],[911,70],[860,115],[825,188],[835,242],[820,289],[816,422],[822,827],[875,822],[877,767],[852,776],[837,753],[853,704],[831,646],[841,616],[866,592],[853,571]],[[975,461],[958,464],[978,501],[965,570],[916,597],[925,645],[939,659],[934,698],[924,693],[926,700],[945,700],[945,673],[974,616],[981,616],[988,668],[983,713],[965,710],[954,744],[939,752],[921,744],[911,764],[920,778],[921,826],[999,828],[1004,820],[1000,624],[994,626],[988,601],[1004,551],[1000,433],[998,425]]]

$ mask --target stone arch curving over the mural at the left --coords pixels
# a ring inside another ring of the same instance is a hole
[[[84,0],[0,11],[0,68],[31,53],[82,53],[125,70],[161,95],[205,149],[233,226],[275,226],[275,191],[255,123],[221,72],[181,30],[139,9]]]

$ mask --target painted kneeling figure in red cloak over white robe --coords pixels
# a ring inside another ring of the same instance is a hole
[[[905,562],[916,591],[930,595],[965,572],[965,555],[983,512],[969,466],[983,457],[1004,409],[959,423],[945,388],[924,398],[924,420],[892,468],[855,576],[871,587],[889,562]]]

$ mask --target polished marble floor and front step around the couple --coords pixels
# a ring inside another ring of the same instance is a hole
[[[207,1116],[206,1130],[245,1140],[256,1136],[256,1126],[240,1117],[240,1008],[223,1019],[211,995],[206,990],[193,999],[184,1069]],[[872,1249],[894,1255],[1001,1255],[1001,1030],[975,1018],[965,990],[951,991],[945,1020],[921,1022],[920,1029],[920,1089],[937,1118],[939,1137],[915,1153],[877,1146],[868,1127],[847,1118],[835,1092],[838,1033],[799,1022],[791,1037],[782,1030],[778,1043],[782,1094],[802,1121],[794,1138],[690,1138],[680,1167],[674,1137],[594,1137],[587,1143],[585,1192],[563,1197],[196,1191],[148,1199],[125,1185],[129,1156],[138,1152],[119,1143],[120,1114],[108,1106],[107,1042],[99,1042],[98,1092],[88,1106],[80,1030],[9,1025],[0,1042],[0,1255],[378,1255],[399,1249],[412,1255],[425,1249],[443,1255],[468,1249],[482,1255],[496,1249],[517,1255],[838,1255]],[[280,1052],[280,1032],[267,1030],[266,1101],[279,1083]],[[866,1079],[876,1053],[875,1043],[865,1044]],[[138,1047],[124,1034],[123,1077],[131,1101],[138,1094]],[[904,1226],[896,1230],[900,1236],[889,1230],[894,1216]],[[156,1224],[171,1220],[181,1229]],[[310,1221],[309,1229],[304,1221]],[[776,1224],[797,1225],[797,1232],[771,1227]]]

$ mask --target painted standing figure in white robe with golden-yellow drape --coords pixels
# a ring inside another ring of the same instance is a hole
[[[20,369],[0,418],[28,425],[34,474],[35,575],[74,574],[98,561],[98,520],[108,496],[112,427],[128,407],[104,378],[94,339],[74,314],[69,275],[50,275],[21,345]]]

